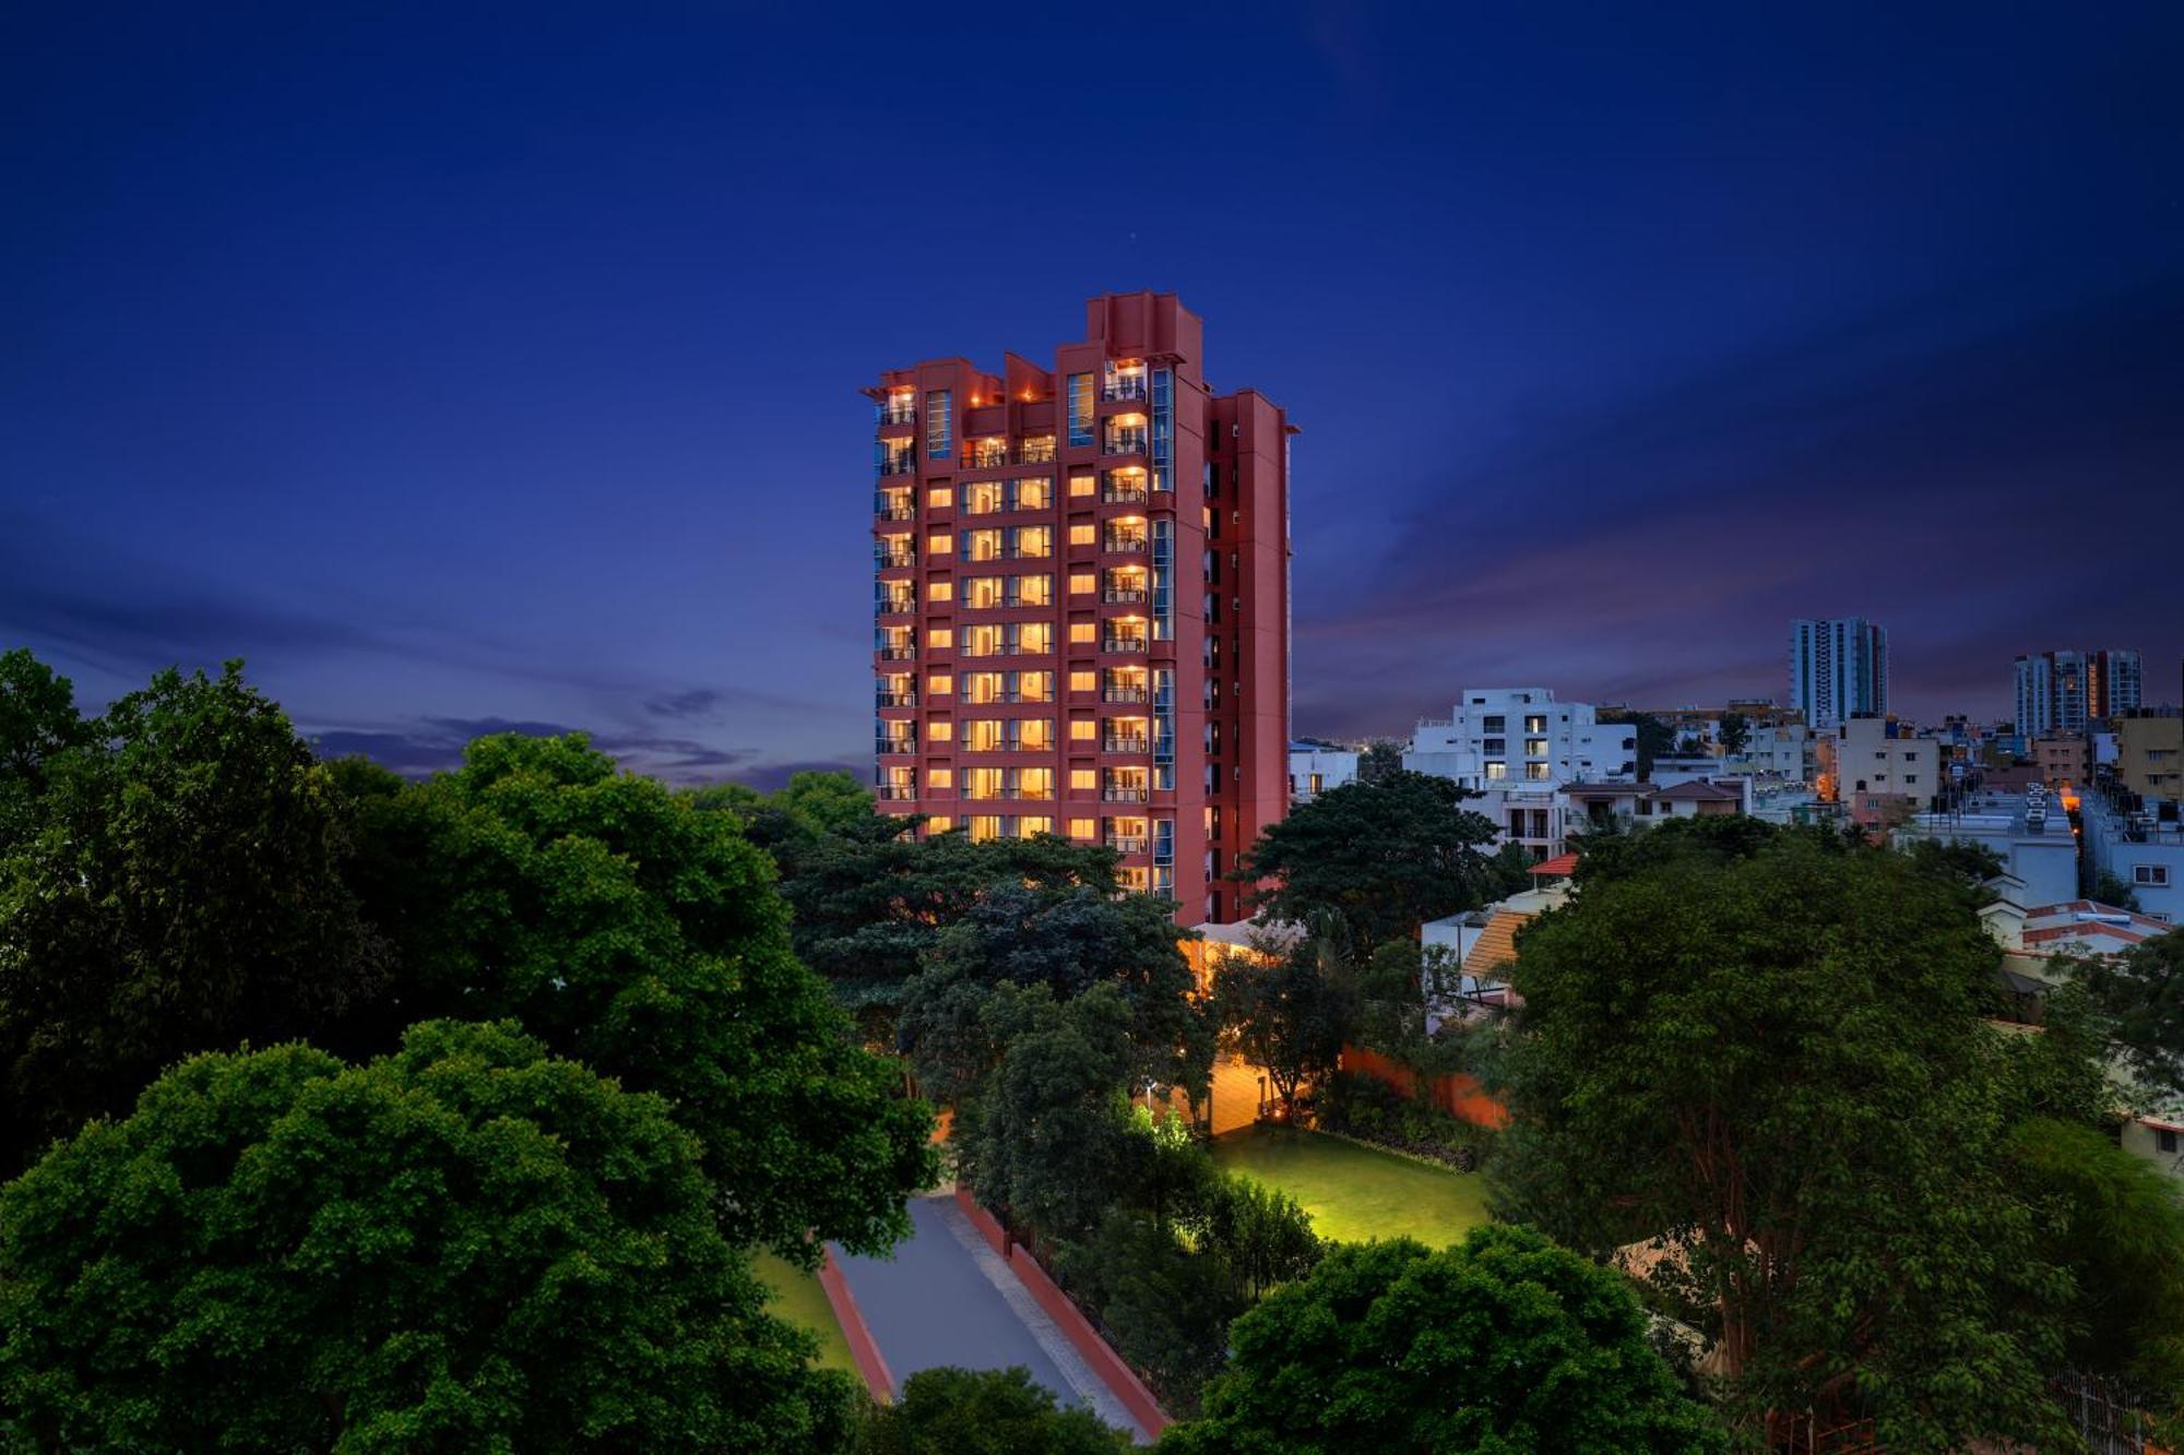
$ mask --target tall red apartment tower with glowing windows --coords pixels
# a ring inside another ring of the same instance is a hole
[[[1109,293],[1051,369],[867,389],[880,806],[1105,841],[1184,924],[1241,918],[1225,876],[1289,804],[1295,428],[1201,365],[1175,295]]]

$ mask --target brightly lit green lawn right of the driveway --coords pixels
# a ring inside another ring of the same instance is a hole
[[[1324,1239],[1413,1237],[1444,1247],[1487,1221],[1479,1173],[1439,1171],[1319,1132],[1245,1127],[1212,1140],[1214,1162],[1295,1197]]]

